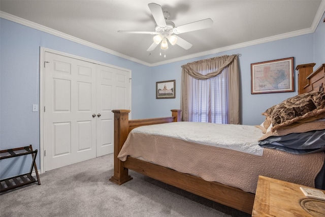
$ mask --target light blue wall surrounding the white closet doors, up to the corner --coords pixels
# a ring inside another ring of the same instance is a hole
[[[132,115],[146,117],[150,67],[6,19],[0,27],[0,149],[32,144],[40,150],[40,114],[31,110],[40,102],[40,47],[131,70]]]

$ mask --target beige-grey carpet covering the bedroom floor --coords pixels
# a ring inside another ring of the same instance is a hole
[[[40,174],[0,195],[5,216],[250,216],[139,173],[122,185],[109,181],[113,154]]]

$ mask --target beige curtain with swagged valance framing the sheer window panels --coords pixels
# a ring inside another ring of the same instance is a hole
[[[206,80],[219,75],[223,70],[228,71],[228,123],[240,123],[240,97],[239,97],[239,68],[237,55],[224,55],[210,59],[204,59],[188,63],[182,66],[181,84],[181,109],[183,121],[188,121],[189,111],[189,91],[191,91],[191,78]],[[208,72],[203,75],[200,72]]]

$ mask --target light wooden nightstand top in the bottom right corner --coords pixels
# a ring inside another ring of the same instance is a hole
[[[252,216],[325,216],[325,201],[305,197],[300,187],[304,186],[259,176]]]

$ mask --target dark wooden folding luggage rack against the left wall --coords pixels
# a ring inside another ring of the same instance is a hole
[[[13,148],[13,149],[7,149],[7,150],[0,150],[0,160],[8,159],[8,158],[14,158],[18,156],[24,156],[26,154],[31,154],[32,157],[32,163],[30,166],[29,173],[13,176],[10,178],[5,178],[0,180],[0,193],[6,192],[15,188],[22,187],[23,185],[27,185],[30,183],[38,182],[38,184],[41,184],[39,173],[36,166],[36,156],[37,156],[37,149],[32,150],[31,145],[20,147],[20,148]],[[32,177],[31,173],[32,170],[35,168],[35,173],[37,180]]]

